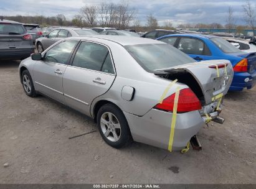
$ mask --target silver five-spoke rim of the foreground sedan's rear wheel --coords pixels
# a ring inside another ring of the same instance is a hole
[[[120,122],[116,116],[110,112],[102,114],[100,127],[104,136],[111,142],[116,142],[121,136]]]

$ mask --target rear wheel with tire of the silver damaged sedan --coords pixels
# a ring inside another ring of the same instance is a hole
[[[97,125],[103,140],[111,147],[118,149],[132,141],[125,115],[113,104],[105,104],[99,109]]]

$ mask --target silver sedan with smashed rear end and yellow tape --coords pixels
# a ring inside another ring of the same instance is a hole
[[[158,40],[70,37],[19,65],[28,96],[44,94],[95,119],[112,147],[132,140],[181,150],[216,119],[232,81],[228,60],[194,62]]]

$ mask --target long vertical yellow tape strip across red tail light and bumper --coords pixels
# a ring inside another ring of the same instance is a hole
[[[168,144],[168,150],[170,152],[173,149],[173,138],[174,138],[174,130],[175,130],[175,125],[176,125],[176,119],[177,119],[177,108],[178,108],[178,101],[179,101],[179,90],[181,90],[181,88],[178,86],[178,88],[176,88],[175,97],[174,97],[173,118],[171,119],[171,132],[170,132],[169,144]]]

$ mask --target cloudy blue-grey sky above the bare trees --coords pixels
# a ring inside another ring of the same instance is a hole
[[[78,13],[86,4],[99,4],[102,0],[0,0],[0,15],[16,16],[55,16],[64,14],[67,19]],[[113,0],[108,2],[119,2]],[[244,23],[242,5],[244,0],[130,0],[130,7],[138,10],[137,18],[145,23],[146,15],[152,13],[159,24],[165,20],[173,21],[174,25],[186,23],[225,24],[229,6],[234,9],[236,24]],[[256,0],[251,0],[254,7]]]

